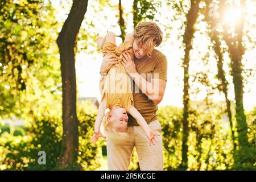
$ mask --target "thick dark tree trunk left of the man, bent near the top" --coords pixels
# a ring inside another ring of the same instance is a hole
[[[60,51],[61,77],[63,89],[63,144],[58,168],[72,168],[77,163],[78,125],[76,115],[76,70],[75,40],[87,9],[88,1],[73,0],[68,18],[57,38]]]

